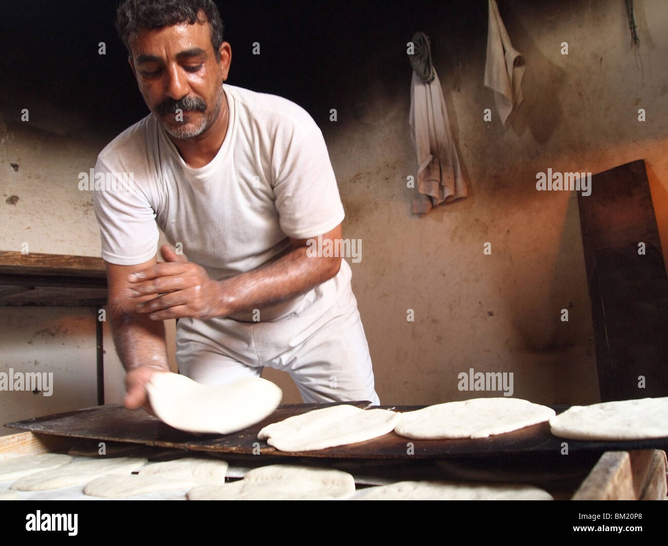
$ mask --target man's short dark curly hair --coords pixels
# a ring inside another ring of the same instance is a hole
[[[206,19],[198,18],[199,11]],[[222,43],[223,24],[213,0],[123,0],[116,11],[116,30],[128,52],[141,30],[160,29],[186,23],[206,23],[211,27],[211,45],[220,61],[218,48]]]

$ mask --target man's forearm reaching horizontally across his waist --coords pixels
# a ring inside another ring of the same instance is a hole
[[[307,256],[295,248],[260,268],[218,282],[221,315],[270,307],[308,292],[339,272],[341,258]]]

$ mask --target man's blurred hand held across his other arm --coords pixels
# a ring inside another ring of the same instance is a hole
[[[160,252],[166,262],[128,276],[128,297],[163,294],[136,304],[136,312],[148,313],[152,320],[186,316],[213,318],[227,314],[221,305],[220,284],[212,280],[202,266],[188,262],[166,244],[160,247]]]

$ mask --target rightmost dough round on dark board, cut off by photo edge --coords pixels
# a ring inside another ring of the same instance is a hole
[[[554,436],[573,440],[668,437],[668,397],[571,406],[550,419]]]

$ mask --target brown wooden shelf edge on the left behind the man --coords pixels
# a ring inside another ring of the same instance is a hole
[[[0,251],[0,273],[73,275],[106,278],[106,264],[95,256],[21,254]]]

